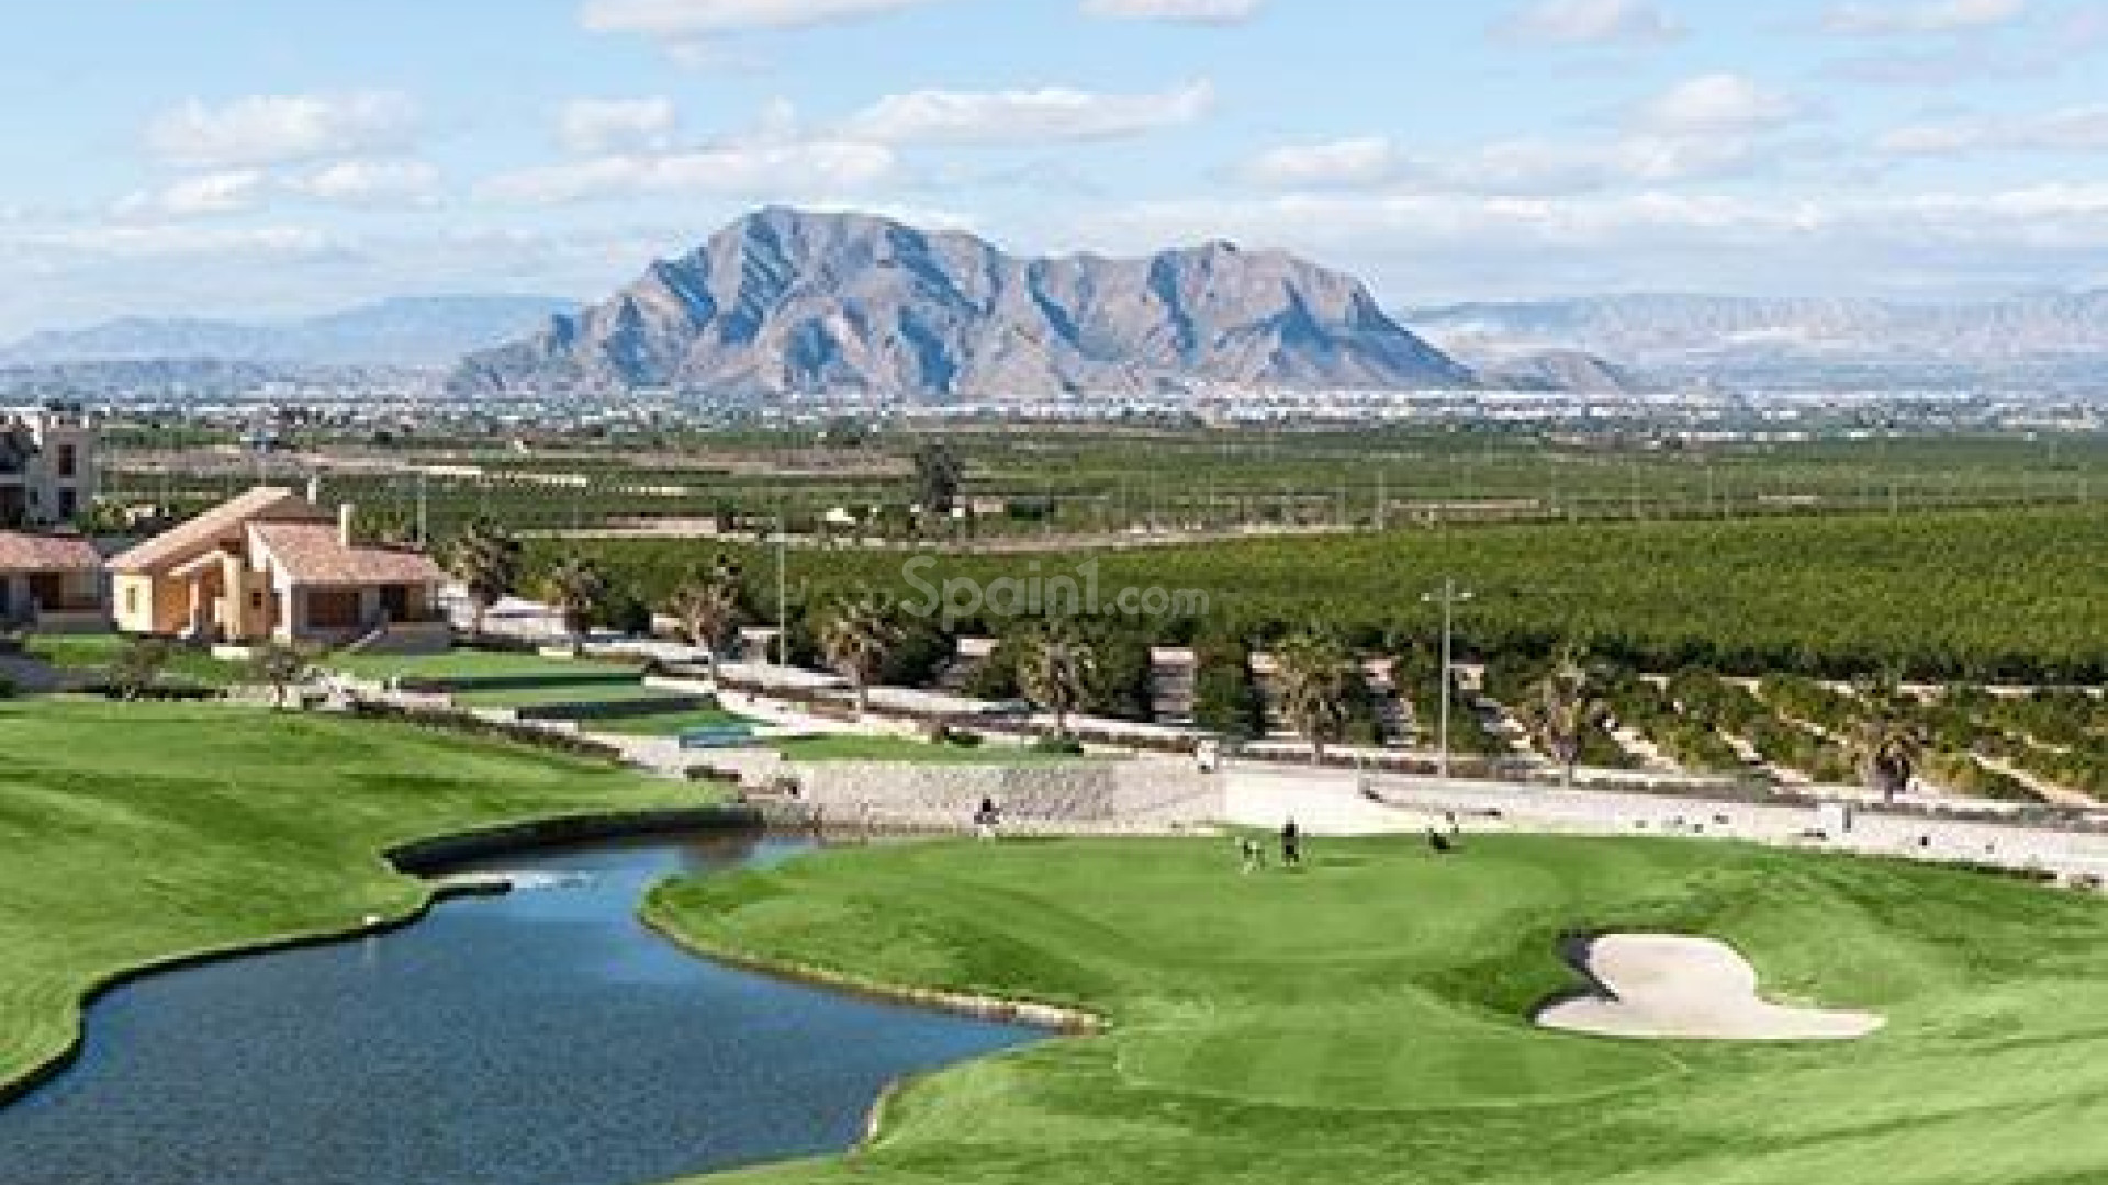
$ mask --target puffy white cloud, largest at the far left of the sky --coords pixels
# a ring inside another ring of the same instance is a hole
[[[247,169],[396,150],[415,124],[417,105],[382,91],[190,99],[148,127],[148,148],[183,169]]]

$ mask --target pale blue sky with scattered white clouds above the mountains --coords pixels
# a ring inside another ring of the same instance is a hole
[[[67,0],[0,339],[599,297],[757,205],[1229,238],[1398,308],[2108,285],[2108,0]]]

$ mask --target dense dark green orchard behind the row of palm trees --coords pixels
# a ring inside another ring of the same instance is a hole
[[[594,561],[622,597],[660,605],[698,565],[740,563],[748,611],[776,618],[776,552],[729,542],[544,542],[531,565]],[[841,597],[925,605],[925,588],[1096,571],[1100,607],[1124,588],[1197,590],[1206,611],[1107,616],[1157,645],[1265,643],[1318,624],[1362,652],[1429,645],[1444,578],[1473,599],[1457,618],[1473,660],[1581,643],[1640,671],[1914,681],[2108,681],[2108,514],[2009,508],[1594,525],[1486,525],[1263,538],[1147,550],[989,557],[788,548],[790,616]],[[1090,567],[1086,567],[1090,565]],[[911,576],[919,584],[911,584]],[[987,609],[957,633],[1003,635]]]

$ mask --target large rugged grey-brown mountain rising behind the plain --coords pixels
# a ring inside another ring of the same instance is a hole
[[[1202,384],[1465,386],[1349,276],[1231,245],[1024,259],[970,234],[767,209],[542,333],[455,390],[1029,401]]]

